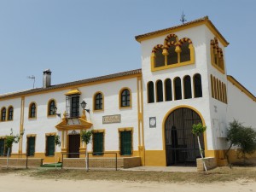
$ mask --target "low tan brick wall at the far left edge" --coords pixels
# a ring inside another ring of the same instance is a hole
[[[2,167],[26,167],[30,166],[38,167],[43,164],[43,159],[40,158],[30,158],[31,156],[27,154],[1,154],[0,156],[0,166]]]

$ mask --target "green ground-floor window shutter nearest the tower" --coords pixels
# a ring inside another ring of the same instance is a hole
[[[131,155],[131,131],[120,132],[121,155]]]

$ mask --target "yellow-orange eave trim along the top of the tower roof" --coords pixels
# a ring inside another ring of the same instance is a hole
[[[141,43],[145,40],[151,39],[151,38],[158,38],[160,36],[164,36],[170,33],[175,33],[175,32],[180,32],[189,28],[193,28],[195,26],[201,26],[201,25],[206,25],[207,28],[213,33],[214,36],[216,36],[219,41],[224,45],[224,47],[227,47],[229,45],[229,43],[224,39],[224,37],[221,35],[220,32],[218,32],[218,30],[216,29],[215,26],[213,26],[211,20],[205,19],[205,20],[201,20],[195,23],[190,23],[189,25],[183,25],[183,26],[177,26],[176,28],[172,28],[169,30],[166,30],[164,32],[156,32],[154,34],[148,35],[146,37],[141,37],[141,38],[137,38],[137,42]]]

